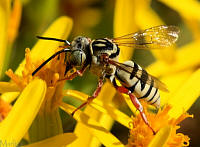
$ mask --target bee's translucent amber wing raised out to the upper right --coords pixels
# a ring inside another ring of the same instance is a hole
[[[136,33],[112,39],[118,46],[135,47],[138,49],[165,48],[178,39],[179,28],[176,26],[156,26]]]

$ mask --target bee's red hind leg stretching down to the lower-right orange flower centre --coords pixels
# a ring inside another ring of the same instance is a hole
[[[119,91],[120,93],[125,93],[127,95],[129,95],[133,105],[135,106],[135,108],[140,112],[140,115],[144,121],[144,123],[152,130],[153,134],[155,135],[156,132],[153,130],[153,128],[150,126],[149,121],[143,111],[143,107],[140,104],[140,101],[131,93],[130,90],[126,89],[123,86],[115,86],[115,88],[117,89],[117,91]]]

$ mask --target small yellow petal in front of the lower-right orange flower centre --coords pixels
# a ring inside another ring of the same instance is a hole
[[[153,138],[153,140],[150,142],[148,147],[164,146],[170,136],[171,129],[172,128],[170,126],[166,126],[160,129],[156,136]]]

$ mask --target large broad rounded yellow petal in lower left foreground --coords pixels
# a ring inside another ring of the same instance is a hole
[[[0,140],[16,144],[28,131],[46,94],[46,83],[35,79],[22,91],[8,116],[0,123]]]

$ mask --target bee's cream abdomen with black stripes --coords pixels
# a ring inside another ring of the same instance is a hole
[[[145,99],[150,104],[159,108],[160,94],[158,88],[155,87],[153,78],[133,61],[126,61],[121,66],[126,71],[117,69],[115,72],[115,77],[120,83],[135,93],[138,99]]]

